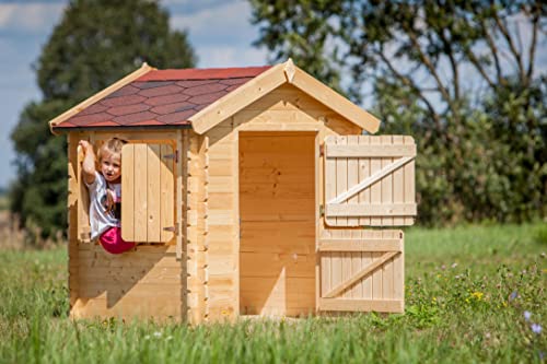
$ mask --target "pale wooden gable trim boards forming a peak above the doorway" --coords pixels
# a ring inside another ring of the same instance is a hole
[[[377,118],[294,66],[291,59],[263,72],[188,120],[194,131],[202,134],[284,83],[292,84],[370,133],[380,128]]]

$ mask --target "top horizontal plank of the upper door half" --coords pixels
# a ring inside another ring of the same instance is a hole
[[[325,155],[334,157],[398,157],[415,156],[416,144],[326,144]]]

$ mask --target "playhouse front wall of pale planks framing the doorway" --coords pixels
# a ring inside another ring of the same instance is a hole
[[[205,171],[203,190],[199,191],[201,193],[199,196],[207,201],[191,202],[198,210],[197,213],[206,218],[203,231],[197,236],[198,245],[203,245],[207,249],[201,257],[205,289],[200,295],[196,295],[198,302],[194,303],[201,307],[197,320],[233,319],[240,313],[238,132],[241,131],[316,132],[318,142],[315,151],[316,176],[323,173],[318,148],[325,137],[361,133],[358,126],[296,87],[282,85],[222,121],[203,137],[193,137],[197,143],[194,152],[200,155],[200,157],[196,155],[196,158]],[[191,169],[191,166],[189,168]],[[321,178],[315,180],[317,221],[318,207],[323,203],[321,193],[323,186]],[[191,206],[189,208],[191,210]],[[316,236],[319,236],[324,230],[323,223],[317,223],[316,228]]]

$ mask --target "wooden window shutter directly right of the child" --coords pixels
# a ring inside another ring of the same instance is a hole
[[[135,243],[166,243],[176,232],[173,148],[124,145],[121,150],[121,237]]]

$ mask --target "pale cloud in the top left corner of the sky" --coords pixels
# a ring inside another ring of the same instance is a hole
[[[49,33],[65,7],[65,2],[0,3],[0,31]]]

